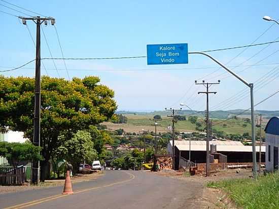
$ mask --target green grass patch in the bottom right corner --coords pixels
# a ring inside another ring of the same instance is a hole
[[[207,187],[221,188],[237,206],[245,209],[279,208],[279,172],[254,179],[230,179],[209,182]]]

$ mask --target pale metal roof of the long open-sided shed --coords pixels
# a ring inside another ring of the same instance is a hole
[[[172,145],[172,141],[169,141]],[[252,152],[252,146],[244,146],[241,142],[235,141],[210,141],[210,145],[217,145],[217,152]],[[190,141],[175,141],[175,146],[180,151],[190,150]],[[260,147],[256,146],[256,152]],[[206,151],[206,141],[191,141],[191,151]],[[265,152],[265,146],[261,147],[261,152]]]

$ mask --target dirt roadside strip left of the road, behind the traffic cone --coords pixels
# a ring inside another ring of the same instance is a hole
[[[76,175],[71,178],[72,183],[78,183],[83,181],[91,181],[97,179],[98,177],[102,176],[102,171],[90,173],[90,174],[82,174]],[[45,182],[40,182],[39,185],[33,186],[30,183],[25,183],[23,186],[0,186],[0,194],[10,193],[10,192],[18,192],[18,191],[26,191],[31,189],[43,189],[46,187],[55,187],[63,185],[65,180],[46,180]]]

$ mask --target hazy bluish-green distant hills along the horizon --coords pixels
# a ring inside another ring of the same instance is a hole
[[[236,110],[218,110],[218,111],[210,111],[210,117],[211,118],[217,118],[217,119],[226,119],[228,117],[233,117],[234,115],[237,115],[239,113],[242,113],[245,110],[242,109],[236,109]],[[133,112],[133,111],[117,111],[116,114],[133,114],[133,115],[161,115],[166,116],[169,115],[169,111],[153,111],[153,112]],[[262,114],[264,118],[271,118],[274,116],[279,117],[279,110],[276,111],[267,111],[267,110],[256,110],[255,114]],[[180,110],[176,111],[176,115],[196,115],[200,117],[204,117],[204,111],[191,111],[191,110]],[[241,117],[248,117],[250,118],[251,112],[247,111],[243,114],[241,114]],[[240,117],[240,116],[239,116]]]

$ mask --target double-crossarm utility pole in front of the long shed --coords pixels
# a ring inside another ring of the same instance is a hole
[[[210,120],[209,120],[209,103],[208,103],[208,95],[209,94],[216,94],[216,91],[208,91],[209,88],[212,85],[215,84],[220,84],[220,80],[218,80],[218,83],[205,83],[202,81],[202,83],[197,83],[195,81],[196,85],[203,85],[206,87],[206,91],[199,91],[198,94],[206,94],[206,177],[210,176],[210,155],[209,155],[209,150],[210,150]]]

